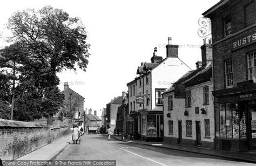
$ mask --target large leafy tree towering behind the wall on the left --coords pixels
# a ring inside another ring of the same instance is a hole
[[[16,52],[9,49],[13,51],[9,53],[23,58],[17,94],[12,95],[17,98],[15,115],[25,121],[38,118],[39,114],[50,117],[63,105],[56,73],[63,69],[76,71],[76,66],[86,71],[90,44],[86,43],[85,26],[78,17],[72,18],[61,9],[45,6],[37,11],[15,12],[9,18],[8,29],[13,34],[8,41],[18,48]],[[17,68],[16,63],[12,66]],[[17,113],[20,109],[23,114]]]

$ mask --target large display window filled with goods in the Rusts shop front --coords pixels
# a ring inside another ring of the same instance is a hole
[[[221,103],[220,111],[220,137],[239,139],[239,126],[241,138],[246,135],[246,130],[242,129],[245,126],[244,112],[238,110],[238,103]],[[239,121],[240,117],[240,121]],[[244,133],[242,133],[244,132]]]

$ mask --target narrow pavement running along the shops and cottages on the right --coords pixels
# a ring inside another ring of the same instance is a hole
[[[122,141],[121,136],[113,136],[115,139]],[[125,142],[136,143],[136,144],[144,144],[146,146],[153,146],[153,147],[161,147],[171,150],[179,150],[185,151],[189,153],[196,153],[196,154],[203,154],[215,157],[224,157],[229,160],[234,161],[241,161],[241,162],[249,162],[249,163],[256,163],[256,152],[247,152],[247,153],[239,153],[233,151],[225,151],[225,150],[214,150],[208,148],[201,148],[201,147],[192,147],[192,146],[184,146],[179,144],[166,144],[163,142],[145,142],[139,140],[123,140]]]

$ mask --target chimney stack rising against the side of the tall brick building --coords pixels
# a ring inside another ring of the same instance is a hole
[[[212,38],[205,38],[204,45],[201,46],[202,67],[206,67],[212,62]]]

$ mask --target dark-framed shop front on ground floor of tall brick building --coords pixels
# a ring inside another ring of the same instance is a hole
[[[256,86],[246,84],[213,92],[216,149],[256,150]]]

